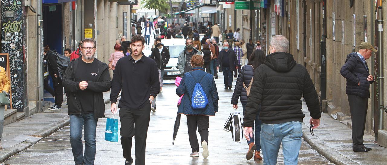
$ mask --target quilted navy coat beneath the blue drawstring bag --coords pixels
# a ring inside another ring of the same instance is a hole
[[[200,79],[202,80],[200,81]],[[207,96],[208,104],[205,109],[198,110],[192,109],[191,97],[192,93],[194,93],[195,84],[199,83],[199,81]],[[219,97],[214,77],[211,74],[204,72],[202,67],[194,67],[192,68],[192,71],[184,74],[179,87],[176,89],[176,94],[178,96],[184,94],[180,106],[178,106],[178,114],[214,116],[215,112],[218,111]]]

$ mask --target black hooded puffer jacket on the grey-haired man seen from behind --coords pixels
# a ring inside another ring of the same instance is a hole
[[[262,110],[259,119],[266,124],[280,124],[302,121],[301,97],[307,102],[310,116],[321,117],[319,96],[307,69],[297,64],[293,55],[275,52],[266,57],[264,64],[254,72],[254,81],[250,90],[243,126],[251,127],[255,116]]]

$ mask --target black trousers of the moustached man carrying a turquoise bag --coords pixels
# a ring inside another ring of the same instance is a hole
[[[123,157],[130,161],[132,158],[132,137],[134,136],[136,165],[145,165],[145,146],[151,118],[151,103],[141,109],[120,109],[121,145]]]

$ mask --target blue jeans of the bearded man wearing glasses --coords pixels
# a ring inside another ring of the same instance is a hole
[[[70,144],[75,164],[93,165],[96,157],[96,129],[98,119],[94,113],[70,114]],[[82,128],[85,135],[85,153],[82,145]]]

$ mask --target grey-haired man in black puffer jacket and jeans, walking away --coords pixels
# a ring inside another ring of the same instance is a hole
[[[307,69],[297,64],[293,55],[286,53],[289,41],[275,35],[270,41],[270,52],[264,64],[254,72],[252,88],[243,118],[245,137],[253,135],[253,122],[257,112],[262,120],[261,147],[265,164],[277,163],[282,141],[284,164],[296,164],[301,147],[302,113],[301,97],[304,96],[310,111],[310,124],[320,125],[320,103]]]

